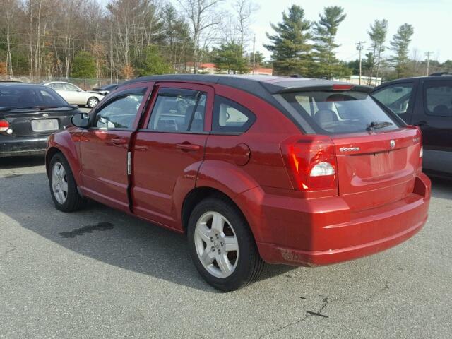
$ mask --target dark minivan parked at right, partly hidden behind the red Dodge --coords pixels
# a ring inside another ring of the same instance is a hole
[[[452,174],[452,75],[388,81],[371,95],[407,124],[420,126],[424,144],[424,169]]]

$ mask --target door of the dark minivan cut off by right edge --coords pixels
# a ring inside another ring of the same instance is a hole
[[[452,174],[452,80],[420,81],[412,124],[422,129],[424,169]]]

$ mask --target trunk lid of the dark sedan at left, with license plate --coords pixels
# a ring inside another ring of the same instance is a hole
[[[76,107],[35,107],[0,111],[0,120],[8,122],[8,136],[40,136],[66,129]]]

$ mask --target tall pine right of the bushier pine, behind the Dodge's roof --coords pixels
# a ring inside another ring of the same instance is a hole
[[[340,23],[345,19],[344,8],[340,6],[325,7],[319,21],[314,23],[315,44],[315,75],[318,77],[335,78],[346,76],[350,70],[340,64],[335,57],[334,49],[339,45],[334,42]],[[350,75],[350,74],[349,74]]]

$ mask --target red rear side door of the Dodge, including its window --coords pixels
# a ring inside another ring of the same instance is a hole
[[[213,88],[157,83],[133,148],[133,213],[180,228],[177,211],[194,189],[210,131]]]

